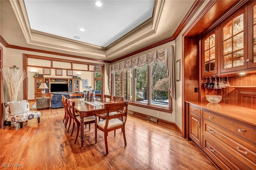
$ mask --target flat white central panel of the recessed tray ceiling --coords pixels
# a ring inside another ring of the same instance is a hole
[[[24,2],[31,29],[100,47],[107,47],[151,18],[154,8],[154,0],[100,0],[101,7],[95,0]]]

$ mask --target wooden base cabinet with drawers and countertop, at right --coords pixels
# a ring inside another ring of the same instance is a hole
[[[255,109],[208,102],[188,103],[189,137],[220,169],[255,169]],[[196,127],[196,122],[202,123],[200,128]]]

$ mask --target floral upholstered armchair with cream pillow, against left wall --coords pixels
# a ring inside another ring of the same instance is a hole
[[[29,111],[28,100],[20,100],[15,102],[5,102],[6,121],[11,126],[11,122],[15,121],[20,123],[20,129],[23,127],[23,122],[30,119],[37,118],[40,123],[41,112]]]

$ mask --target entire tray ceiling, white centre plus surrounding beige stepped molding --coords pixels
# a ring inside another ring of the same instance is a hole
[[[172,37],[194,0],[102,0],[103,8],[89,2],[0,0],[0,35],[13,46],[112,61]]]

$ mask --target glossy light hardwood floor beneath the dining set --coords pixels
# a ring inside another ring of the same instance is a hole
[[[32,106],[34,104],[30,103]],[[109,154],[105,154],[104,136],[98,131],[95,144],[94,124],[85,129],[84,147],[80,135],[74,144],[62,122],[64,109],[41,110],[40,123],[32,119],[23,124],[0,129],[0,169],[22,170],[216,170],[194,145],[172,127],[157,125],[129,115],[126,141],[117,130],[108,134]],[[76,129],[75,129],[76,131]],[[76,132],[75,132],[76,133]],[[3,167],[10,165],[10,168]],[[10,164],[9,164],[10,163]],[[16,168],[14,164],[21,164]]]

